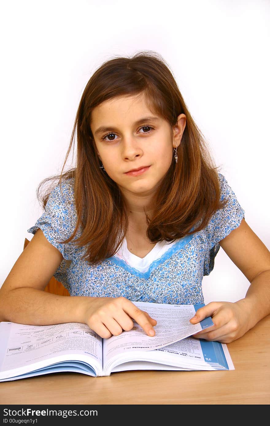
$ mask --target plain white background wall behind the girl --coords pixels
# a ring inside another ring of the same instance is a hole
[[[270,247],[269,1],[24,0],[2,3],[0,15],[0,285],[42,214],[38,184],[61,172],[87,81],[105,60],[141,50],[171,67],[248,225]],[[241,299],[248,285],[221,248],[203,279],[206,302]]]

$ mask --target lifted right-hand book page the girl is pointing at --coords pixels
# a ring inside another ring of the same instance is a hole
[[[202,330],[200,323],[189,322],[195,314],[194,305],[167,305],[162,303],[133,302],[139,309],[148,312],[157,320],[154,327],[156,335],[150,337],[134,321],[134,328],[123,331],[119,336],[112,336],[103,341],[103,363],[111,357],[131,351],[152,351],[184,339]],[[204,327],[213,325],[211,318]]]

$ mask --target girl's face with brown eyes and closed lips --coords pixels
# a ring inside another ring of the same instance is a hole
[[[172,129],[148,109],[143,94],[102,102],[93,109],[90,124],[103,167],[127,198],[154,195],[185,126],[186,116],[181,114]],[[141,167],[147,169],[127,173]]]

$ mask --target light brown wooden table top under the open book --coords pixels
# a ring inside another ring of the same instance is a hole
[[[0,404],[269,404],[270,315],[228,344],[235,370],[53,373],[0,383]]]

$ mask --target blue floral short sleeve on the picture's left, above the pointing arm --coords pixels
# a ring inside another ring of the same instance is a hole
[[[49,195],[45,211],[37,220],[34,226],[29,228],[27,232],[35,234],[40,228],[46,239],[61,253],[64,259],[72,260],[74,244],[61,243],[61,241],[69,238],[76,222],[74,193],[72,180],[64,182],[55,187]]]

